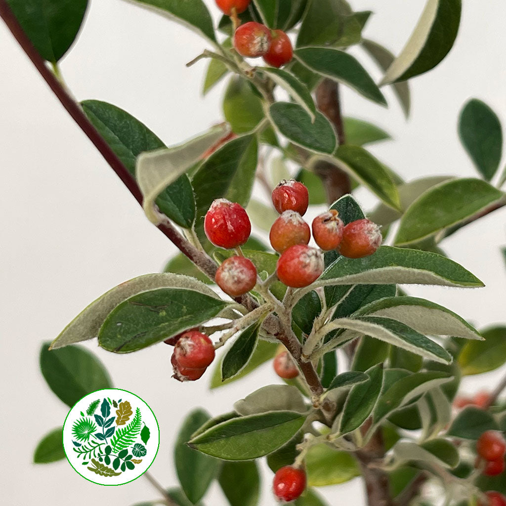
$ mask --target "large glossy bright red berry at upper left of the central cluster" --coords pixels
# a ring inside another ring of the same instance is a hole
[[[248,240],[251,223],[242,206],[219,198],[205,214],[204,231],[215,246],[231,249]]]

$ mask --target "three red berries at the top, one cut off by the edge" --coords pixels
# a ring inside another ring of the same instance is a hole
[[[216,0],[220,10],[227,16],[244,12],[250,0]],[[262,23],[250,21],[239,26],[234,33],[236,51],[248,58],[262,56],[272,67],[281,67],[293,57],[293,48],[283,30],[271,30]]]

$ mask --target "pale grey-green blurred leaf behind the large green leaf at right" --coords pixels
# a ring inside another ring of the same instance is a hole
[[[400,211],[392,209],[392,207],[380,203],[368,217],[378,225],[387,226],[398,220],[406,212],[406,209],[424,192],[439,185],[444,181],[448,181],[449,176],[431,176],[428,178],[415,179],[409,183],[402,183],[397,187],[400,200]]]

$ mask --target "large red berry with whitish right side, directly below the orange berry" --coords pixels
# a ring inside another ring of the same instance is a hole
[[[290,246],[276,264],[279,280],[292,288],[310,285],[322,272],[321,251],[305,244]]]

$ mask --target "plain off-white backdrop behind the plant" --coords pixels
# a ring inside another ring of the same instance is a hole
[[[206,3],[214,9],[213,0]],[[213,4],[213,5],[211,5]],[[354,0],[370,9],[365,35],[398,53],[424,0]],[[506,122],[504,43],[506,4],[466,0],[456,45],[432,72],[411,81],[412,112],[405,121],[390,90],[390,108],[344,90],[347,115],[372,120],[394,137],[372,151],[405,179],[427,175],[473,176],[459,144],[456,121],[463,103],[478,97]],[[201,98],[203,62],[185,63],[205,42],[185,28],[121,0],[92,2],[85,26],[61,66],[79,100],[99,99],[145,122],[168,145],[179,143],[222,119],[223,86]],[[379,77],[374,65],[353,51]],[[502,162],[504,164],[504,161]],[[77,475],[66,461],[31,463],[38,439],[61,426],[67,407],[38,370],[43,341],[52,340],[92,300],[134,276],[157,272],[175,253],[79,131],[0,24],[0,213],[2,232],[1,325],[2,464],[6,504],[129,506],[157,497],[143,478],[122,487],[100,487]],[[374,200],[365,192],[366,207]],[[308,217],[310,218],[310,217]],[[502,209],[444,242],[451,258],[485,283],[479,290],[410,287],[409,292],[446,305],[477,326],[506,320],[506,270],[499,247],[506,242]],[[114,355],[87,343],[107,365],[114,385],[140,395],[157,415],[160,449],[151,468],[164,485],[176,485],[172,463],[176,431],[195,405],[213,415],[234,400],[276,382],[269,366],[248,379],[209,392],[207,381],[179,384],[170,378],[170,352],[158,345]],[[469,392],[491,388],[499,373],[468,378]],[[274,501],[265,473],[261,504]],[[321,489],[335,504],[364,504],[361,482]],[[205,503],[225,503],[213,486]]]

